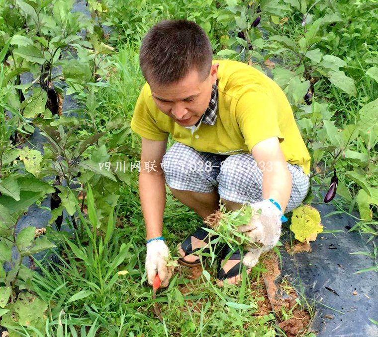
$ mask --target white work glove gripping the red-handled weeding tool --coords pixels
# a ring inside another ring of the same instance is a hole
[[[172,267],[167,267],[169,249],[163,240],[152,240],[147,244],[146,272],[148,284],[152,285],[156,273],[162,281],[161,287],[167,287],[172,277]]]

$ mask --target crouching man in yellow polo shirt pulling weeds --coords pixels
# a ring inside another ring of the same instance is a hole
[[[194,22],[162,21],[142,41],[140,67],[146,83],[131,129],[142,137],[139,193],[146,224],[146,270],[152,285],[172,276],[162,237],[165,184],[206,219],[222,202],[227,210],[250,202],[261,209],[240,230],[260,243],[242,257],[235,247],[220,254],[218,284],[236,284],[263,251],[280,238],[283,213],[299,206],[309,187],[310,156],[282,89],[254,67],[213,60],[206,33]],[[168,136],[175,140],[167,151]],[[151,164],[153,169],[151,169]],[[179,246],[180,262],[198,265],[208,247],[201,224]]]

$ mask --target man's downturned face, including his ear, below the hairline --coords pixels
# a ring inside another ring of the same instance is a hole
[[[197,70],[168,85],[150,84],[156,106],[167,116],[184,127],[193,126],[205,113],[211,98],[212,85],[216,82],[219,64],[211,66],[204,81],[198,78]]]

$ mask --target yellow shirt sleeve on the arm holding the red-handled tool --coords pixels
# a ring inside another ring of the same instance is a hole
[[[143,86],[135,104],[130,128],[136,134],[151,140],[165,140],[169,136],[168,132],[158,127],[156,120],[147,106],[146,85]]]

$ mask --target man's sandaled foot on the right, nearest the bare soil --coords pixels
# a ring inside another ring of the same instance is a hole
[[[225,258],[231,252],[231,248],[226,246],[223,251],[221,252],[222,261],[220,266],[223,266],[225,262]],[[243,270],[243,263],[242,263],[242,255],[240,254],[239,249],[233,249],[233,253],[228,258],[227,262],[224,264],[223,267],[220,267],[218,270],[218,278],[216,280],[218,286],[223,286],[224,282],[228,284],[238,284],[242,279],[242,270]],[[247,269],[247,275],[251,272],[252,268]]]

